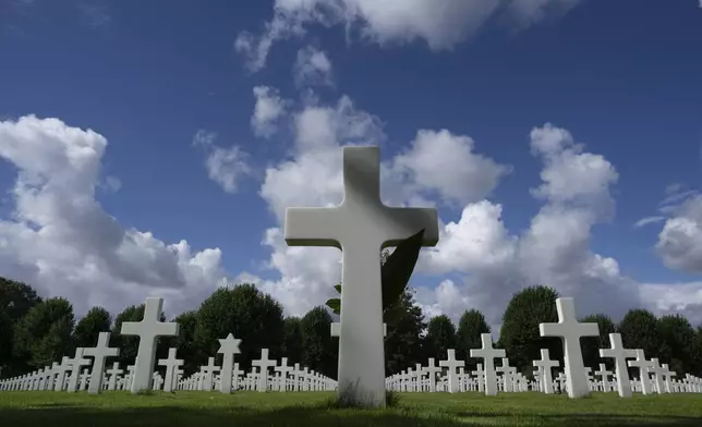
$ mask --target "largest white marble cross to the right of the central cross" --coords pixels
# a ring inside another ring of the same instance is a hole
[[[590,385],[582,362],[582,337],[598,337],[597,324],[580,324],[576,318],[576,304],[573,298],[556,298],[558,310],[557,324],[540,324],[538,331],[542,337],[558,337],[564,343],[564,368],[568,386],[568,396],[582,398],[590,394]]]

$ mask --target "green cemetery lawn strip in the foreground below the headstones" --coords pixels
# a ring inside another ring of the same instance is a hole
[[[702,394],[403,393],[397,406],[329,407],[334,393],[0,392],[0,426],[702,426]]]

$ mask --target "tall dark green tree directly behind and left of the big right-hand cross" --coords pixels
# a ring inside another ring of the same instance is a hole
[[[533,371],[532,361],[548,349],[550,357],[561,361],[562,343],[558,338],[542,338],[538,324],[558,321],[558,293],[548,286],[529,286],[517,292],[503,315],[499,343],[512,366],[522,374]]]

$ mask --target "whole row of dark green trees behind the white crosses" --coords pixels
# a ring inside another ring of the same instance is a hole
[[[531,376],[532,361],[540,358],[542,347],[549,349],[552,358],[560,359],[562,366],[560,340],[538,333],[540,322],[558,320],[557,297],[547,286],[525,288],[512,296],[503,315],[496,346],[505,349],[510,364],[526,376]],[[121,349],[116,362],[133,364],[138,338],[119,331],[122,322],[140,321],[143,314],[144,305],[126,307],[114,318],[105,308],[94,307],[76,322],[65,298],[41,298],[31,285],[0,278],[0,378],[50,366],[64,355],[72,356],[76,347],[94,346],[102,331],[111,331],[110,345]],[[161,320],[166,319],[161,315]],[[235,357],[240,368],[249,369],[261,349],[269,349],[270,357],[288,357],[289,364],[337,376],[338,338],[330,335],[334,316],[324,306],[301,317],[286,317],[270,295],[242,283],[216,290],[197,309],[169,320],[180,324],[180,335],[161,338],[158,357],[167,357],[169,347],[178,347],[186,375],[216,356],[218,339],[231,332],[242,340],[241,354]],[[417,363],[426,365],[428,357],[444,358],[448,349],[456,349],[457,357],[467,361],[467,369],[474,369],[477,361],[469,357],[469,351],[481,346],[481,333],[491,332],[477,309],[465,310],[458,325],[445,315],[425,319],[411,289],[384,312],[384,321],[387,375]],[[610,359],[600,359],[597,349],[608,347],[608,333],[619,332],[627,347],[643,349],[647,357],[657,356],[678,374],[702,376],[702,326],[693,328],[680,315],[658,318],[644,309],[631,309],[618,324],[602,314],[581,321],[600,326],[600,337],[581,340],[585,366],[593,370],[600,363],[613,367]]]

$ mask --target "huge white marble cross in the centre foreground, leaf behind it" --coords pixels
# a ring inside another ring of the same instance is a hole
[[[343,200],[332,208],[288,208],[286,242],[342,251],[338,393],[365,406],[385,405],[385,351],[379,253],[424,229],[438,242],[436,209],[380,202],[378,147],[343,148]]]

